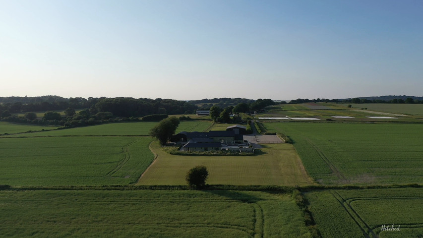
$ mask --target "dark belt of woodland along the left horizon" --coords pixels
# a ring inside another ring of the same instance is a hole
[[[163,119],[167,115],[195,113],[197,107],[185,101],[173,99],[134,99],[134,98],[69,98],[44,97],[39,98],[13,97],[2,98],[5,103],[0,103],[0,119],[3,121],[52,124],[64,126],[83,126],[112,121],[134,121]],[[7,99],[7,100],[6,100]],[[28,104],[17,100],[23,99]],[[82,109],[82,110],[81,110]],[[79,111],[76,113],[76,111]],[[55,111],[64,111],[64,116],[60,116]],[[24,116],[13,114],[26,113]],[[44,117],[38,118],[33,112],[46,112]],[[160,116],[158,116],[160,115]]]

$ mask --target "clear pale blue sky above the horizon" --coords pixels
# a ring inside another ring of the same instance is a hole
[[[0,97],[423,96],[422,0],[0,0]]]

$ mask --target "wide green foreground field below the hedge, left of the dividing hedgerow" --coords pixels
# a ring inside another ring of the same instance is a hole
[[[250,191],[0,191],[0,237],[309,237],[290,195]]]

